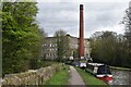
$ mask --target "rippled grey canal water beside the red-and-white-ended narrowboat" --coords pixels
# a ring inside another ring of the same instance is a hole
[[[131,85],[131,72],[111,70],[112,79],[105,80],[108,85]]]

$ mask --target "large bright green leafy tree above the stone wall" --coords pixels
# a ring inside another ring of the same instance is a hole
[[[41,34],[35,22],[36,2],[3,2],[2,62],[3,75],[29,69],[38,59]]]

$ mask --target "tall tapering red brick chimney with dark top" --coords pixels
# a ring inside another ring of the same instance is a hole
[[[84,57],[84,20],[83,20],[83,4],[80,4],[79,58],[82,57]]]

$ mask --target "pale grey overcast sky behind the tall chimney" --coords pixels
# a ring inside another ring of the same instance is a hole
[[[48,36],[63,29],[71,36],[79,37],[80,4],[84,5],[84,37],[95,32],[124,32],[120,24],[126,15],[127,2],[41,2],[38,1],[37,21]]]

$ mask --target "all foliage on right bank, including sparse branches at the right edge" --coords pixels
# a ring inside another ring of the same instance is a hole
[[[112,32],[96,32],[92,36],[92,57],[96,62],[131,67],[131,2],[126,10],[124,35]]]

